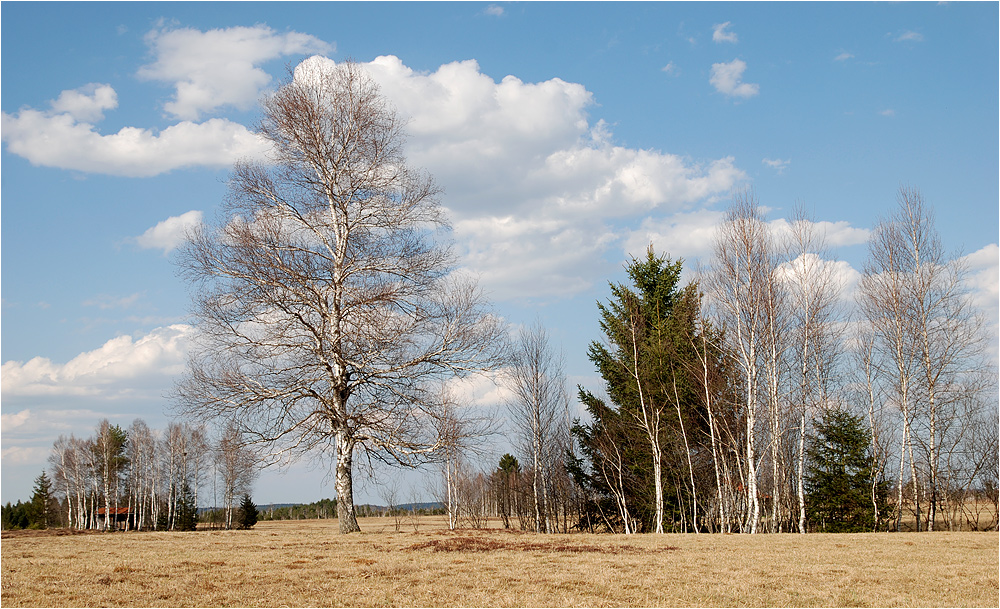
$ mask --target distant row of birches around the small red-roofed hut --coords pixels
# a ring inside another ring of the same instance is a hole
[[[39,507],[5,527],[193,530],[198,505],[211,501],[222,506],[218,526],[234,528],[251,515],[259,467],[233,427],[213,437],[204,425],[173,422],[161,431],[142,419],[128,428],[104,419],[86,438],[60,435],[48,462],[51,476],[36,479],[30,502]]]

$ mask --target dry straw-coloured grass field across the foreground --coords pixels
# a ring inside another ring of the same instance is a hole
[[[533,535],[389,519],[4,533],[4,607],[980,606],[997,533]],[[46,534],[47,533],[47,534]]]

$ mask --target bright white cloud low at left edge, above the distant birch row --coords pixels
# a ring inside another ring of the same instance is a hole
[[[143,391],[150,378],[179,374],[194,328],[175,324],[135,340],[118,336],[65,364],[46,357],[0,366],[4,399],[16,396],[102,396],[123,398]],[[154,383],[156,384],[156,383]]]

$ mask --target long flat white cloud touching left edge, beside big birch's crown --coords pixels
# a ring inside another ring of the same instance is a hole
[[[184,121],[160,132],[123,127],[102,135],[71,114],[23,108],[14,115],[4,112],[0,125],[7,149],[32,165],[127,177],[229,167],[240,158],[261,158],[267,149],[243,125],[219,118]]]

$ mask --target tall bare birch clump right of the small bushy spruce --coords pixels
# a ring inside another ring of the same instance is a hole
[[[869,240],[859,304],[873,332],[873,367],[891,373],[901,415],[897,504],[908,456],[917,529],[923,488],[924,523],[933,530],[941,501],[942,441],[953,418],[942,415],[995,384],[995,376],[987,375],[985,384],[980,380],[983,321],[968,297],[962,258],[945,253],[933,211],[919,191],[902,187],[896,201]],[[922,463],[914,447],[922,449]],[[897,528],[900,517],[897,507]]]

